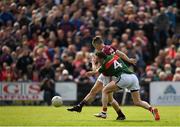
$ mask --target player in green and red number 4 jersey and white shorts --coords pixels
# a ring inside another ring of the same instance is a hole
[[[94,74],[99,72],[105,76],[114,77],[113,80],[108,83],[102,91],[102,104],[103,113],[106,113],[108,104],[108,95],[120,88],[127,88],[131,91],[133,102],[136,106],[143,107],[149,110],[155,120],[160,120],[160,115],[157,108],[153,108],[147,102],[142,101],[139,93],[139,81],[136,75],[130,71],[127,65],[117,55],[106,55],[103,52],[98,52],[97,57],[101,63],[101,67],[94,71]]]

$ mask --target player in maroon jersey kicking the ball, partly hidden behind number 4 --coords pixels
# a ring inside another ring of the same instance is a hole
[[[117,54],[124,61],[126,61],[130,64],[136,64],[135,59],[128,58],[127,55],[125,55],[123,52],[116,50],[115,48],[113,48],[110,45],[105,45],[104,41],[102,40],[102,38],[100,36],[96,36],[93,38],[92,45],[97,51],[102,51],[106,55]],[[93,68],[93,70],[99,68],[99,66],[96,65],[96,61],[94,61],[94,60],[92,60],[92,68]],[[91,74],[89,74],[89,75],[91,75]],[[103,74],[100,74],[95,85],[92,87],[90,92],[86,95],[86,97],[78,105],[76,105],[72,108],[68,108],[67,110],[81,112],[83,106],[87,103],[90,103],[93,100],[93,98],[95,98],[96,94],[101,92],[103,87],[106,84],[108,84],[110,81],[111,81],[110,77],[106,77]],[[118,114],[117,120],[124,120],[125,115],[122,113],[118,102],[113,98],[112,93],[108,95],[108,101]],[[103,109],[103,110],[105,110],[105,109]],[[107,117],[107,115],[103,114],[103,113],[95,114],[95,116],[102,117],[102,118]]]

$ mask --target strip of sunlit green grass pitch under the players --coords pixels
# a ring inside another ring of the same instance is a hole
[[[1,106],[0,126],[180,126],[180,106],[158,107],[160,121],[139,107],[124,106],[125,121],[116,121],[116,113],[108,108],[108,118],[93,116],[101,107],[85,107],[81,113],[68,112],[67,107]]]

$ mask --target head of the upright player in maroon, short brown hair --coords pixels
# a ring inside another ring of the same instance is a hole
[[[95,36],[93,38],[92,45],[97,51],[101,51],[104,46],[104,42],[101,36]]]

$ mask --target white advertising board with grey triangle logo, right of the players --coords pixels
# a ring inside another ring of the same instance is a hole
[[[180,82],[152,82],[150,103],[152,105],[180,105]]]

